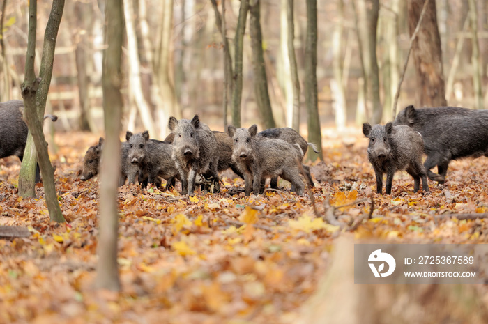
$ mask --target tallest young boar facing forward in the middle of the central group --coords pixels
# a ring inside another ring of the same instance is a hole
[[[192,120],[170,117],[168,127],[174,133],[172,159],[181,176],[183,194],[193,195],[197,173],[212,177],[219,190],[217,139],[198,115]]]

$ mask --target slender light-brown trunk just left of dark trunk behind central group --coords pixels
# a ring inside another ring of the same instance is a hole
[[[298,68],[296,65],[295,54],[295,18],[293,17],[294,6],[293,0],[287,0],[287,46],[290,61],[291,82],[293,85],[293,112],[291,127],[293,130],[300,132],[300,79],[298,79]]]

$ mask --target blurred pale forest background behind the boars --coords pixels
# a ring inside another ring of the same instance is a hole
[[[243,1],[250,3],[251,8],[257,4],[260,10],[258,22],[262,31],[266,81],[277,127],[292,126],[291,117],[287,118],[290,115],[287,111],[293,107],[287,6],[291,4],[293,8],[293,45],[301,94],[299,125],[306,135],[307,1],[294,1],[294,4],[290,0]],[[2,2],[0,101],[6,101],[22,99],[20,84],[24,80],[29,17],[26,1]],[[423,0],[317,1],[317,89],[322,127],[346,129],[365,120],[375,122],[376,110],[383,111],[379,115],[382,122],[392,119],[393,100],[416,25],[413,22],[409,28],[409,20],[419,15],[423,3]],[[234,68],[234,36],[241,1],[227,0],[223,4]],[[59,116],[60,122],[52,126],[56,129],[102,131],[104,6],[103,0],[66,2],[46,109],[47,113]],[[436,85],[440,89],[436,92],[445,92],[448,105],[482,108],[483,102],[488,100],[488,92],[482,91],[488,81],[487,1],[430,0],[428,7],[422,24],[427,29],[438,29],[441,62],[431,53],[432,61],[423,65],[424,70],[428,74],[440,68],[438,73],[443,80]],[[50,8],[50,1],[38,3],[39,31],[45,29]],[[434,14],[429,15],[429,10],[434,10]],[[164,138],[169,116],[189,118],[196,113],[216,130],[224,128],[224,118],[232,123],[231,86],[225,93],[229,101],[227,115],[222,108],[224,46],[218,28],[222,24],[222,1],[128,0],[124,1],[124,14],[123,130],[148,129],[151,137]],[[434,23],[434,27],[429,22]],[[243,126],[258,123],[262,129],[272,124],[259,114],[259,100],[255,95],[259,91],[256,88],[262,90],[262,84],[257,82],[252,67],[253,29],[250,25],[256,24],[252,12],[246,24],[241,123]],[[38,33],[38,56],[43,36],[42,32]],[[434,40],[435,33],[427,30],[427,42],[434,42],[429,39],[431,36]],[[368,52],[371,47],[376,50]],[[427,49],[429,51],[432,52]],[[436,104],[435,100],[429,102],[422,98],[426,86],[415,75],[415,46],[411,56],[397,110],[411,104],[442,105],[442,102]],[[425,57],[425,53],[422,56]],[[39,61],[37,58],[37,73]]]

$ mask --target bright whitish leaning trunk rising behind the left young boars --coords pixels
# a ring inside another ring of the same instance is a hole
[[[157,136],[151,109],[146,102],[146,98],[144,98],[144,93],[142,93],[141,67],[139,55],[137,54],[137,38],[133,19],[135,13],[133,0],[124,0],[123,10],[125,13],[125,31],[127,33],[127,51],[129,56],[130,91],[132,92],[132,95],[134,95],[135,104],[139,109],[139,115],[142,118],[144,128],[146,128],[152,136]]]

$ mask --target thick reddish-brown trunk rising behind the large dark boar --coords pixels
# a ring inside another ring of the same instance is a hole
[[[413,35],[426,0],[407,1],[410,35]],[[437,29],[436,1],[427,4],[425,17],[413,40],[413,61],[417,76],[417,105],[439,107],[445,101],[444,75],[442,68],[441,38]]]

